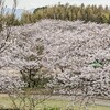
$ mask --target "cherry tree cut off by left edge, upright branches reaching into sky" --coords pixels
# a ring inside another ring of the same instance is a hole
[[[13,0],[13,8],[12,8],[12,14],[14,15],[16,9],[16,0]],[[13,42],[13,36],[11,32],[11,26],[7,25],[6,22],[6,7],[4,7],[4,0],[0,1],[0,91],[2,92],[12,92],[13,88],[20,88],[20,77],[16,76],[10,76],[6,72],[6,68],[9,66],[10,58],[6,54],[6,52],[10,48]],[[13,22],[13,20],[12,20]],[[22,87],[22,85],[21,85]]]

